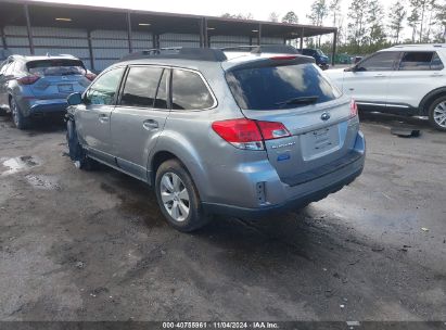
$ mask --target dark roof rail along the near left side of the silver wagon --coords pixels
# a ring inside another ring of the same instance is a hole
[[[143,51],[130,53],[120,59],[120,62],[141,59],[181,59],[195,61],[222,62],[227,58],[219,49],[213,48],[152,48]]]

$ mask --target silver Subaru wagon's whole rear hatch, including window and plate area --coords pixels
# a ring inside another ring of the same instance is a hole
[[[302,183],[349,156],[358,130],[351,100],[316,65],[242,67],[228,72],[227,80],[245,117],[279,122],[289,130],[290,137],[265,141],[282,181]]]

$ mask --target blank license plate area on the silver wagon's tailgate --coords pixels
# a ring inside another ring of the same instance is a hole
[[[337,126],[309,131],[303,136],[302,142],[303,156],[305,160],[321,156],[339,148]]]

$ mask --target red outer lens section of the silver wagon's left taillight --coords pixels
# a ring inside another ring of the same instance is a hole
[[[240,118],[215,122],[212,127],[227,142],[245,143],[262,141],[260,131],[254,120]]]

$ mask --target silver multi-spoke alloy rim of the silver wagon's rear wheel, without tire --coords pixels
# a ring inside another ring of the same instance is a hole
[[[167,213],[176,221],[184,221],[190,212],[189,192],[178,175],[168,172],[161,179],[161,198]]]

